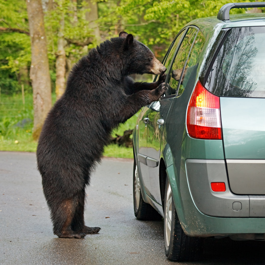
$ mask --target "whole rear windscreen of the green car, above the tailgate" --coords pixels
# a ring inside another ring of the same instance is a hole
[[[265,27],[232,28],[205,87],[219,96],[265,98]]]

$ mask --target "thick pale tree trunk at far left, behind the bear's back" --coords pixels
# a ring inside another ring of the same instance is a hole
[[[41,0],[27,0],[31,42],[30,79],[33,89],[33,139],[38,140],[48,111],[51,108],[51,78],[47,56]]]

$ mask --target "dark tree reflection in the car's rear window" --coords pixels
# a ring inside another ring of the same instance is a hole
[[[232,29],[214,62],[206,87],[220,96],[250,97],[257,87],[249,77],[258,52],[254,43],[251,27]]]

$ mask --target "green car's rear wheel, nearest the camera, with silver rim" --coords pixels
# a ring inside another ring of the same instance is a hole
[[[202,238],[185,235],[175,209],[168,178],[165,188],[164,238],[166,257],[174,261],[194,261],[202,254]]]

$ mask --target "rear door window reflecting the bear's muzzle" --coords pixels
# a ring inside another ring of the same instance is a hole
[[[176,94],[176,89],[178,88],[178,83],[180,80],[180,76],[182,74],[183,67],[187,61],[189,51],[191,49],[193,40],[197,34],[197,29],[195,28],[189,28],[185,37],[183,38],[183,41],[179,47],[179,50],[176,54],[175,60],[172,64],[171,69],[169,70],[170,76],[169,76],[169,85],[168,89],[165,94],[172,95]],[[182,80],[183,82],[183,80]]]

